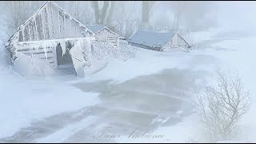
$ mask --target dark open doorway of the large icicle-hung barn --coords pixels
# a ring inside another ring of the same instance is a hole
[[[62,46],[60,44],[57,45],[56,54],[58,69],[66,70],[69,73],[71,72],[72,74],[76,74],[74,70],[74,64],[70,55],[70,48],[70,45],[66,45],[66,53],[64,54],[64,52],[62,51]]]

